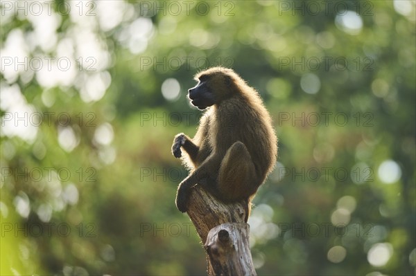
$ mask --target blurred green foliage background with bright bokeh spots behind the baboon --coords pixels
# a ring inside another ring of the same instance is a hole
[[[257,273],[415,275],[415,1],[185,2],[1,2],[1,275],[204,275],[170,147],[198,125],[192,76],[217,65],[279,137],[249,221]]]

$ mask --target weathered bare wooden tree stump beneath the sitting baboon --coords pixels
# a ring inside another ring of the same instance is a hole
[[[245,202],[225,204],[199,185],[192,189],[188,215],[205,245],[209,275],[256,275],[249,246]]]

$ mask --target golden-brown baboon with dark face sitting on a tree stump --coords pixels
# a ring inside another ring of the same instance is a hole
[[[173,156],[191,170],[177,188],[177,209],[187,212],[189,192],[198,184],[225,203],[244,200],[250,214],[251,200],[277,158],[269,113],[259,93],[232,69],[209,68],[194,79],[198,84],[188,90],[189,99],[205,113],[193,139],[177,134],[173,140]]]

